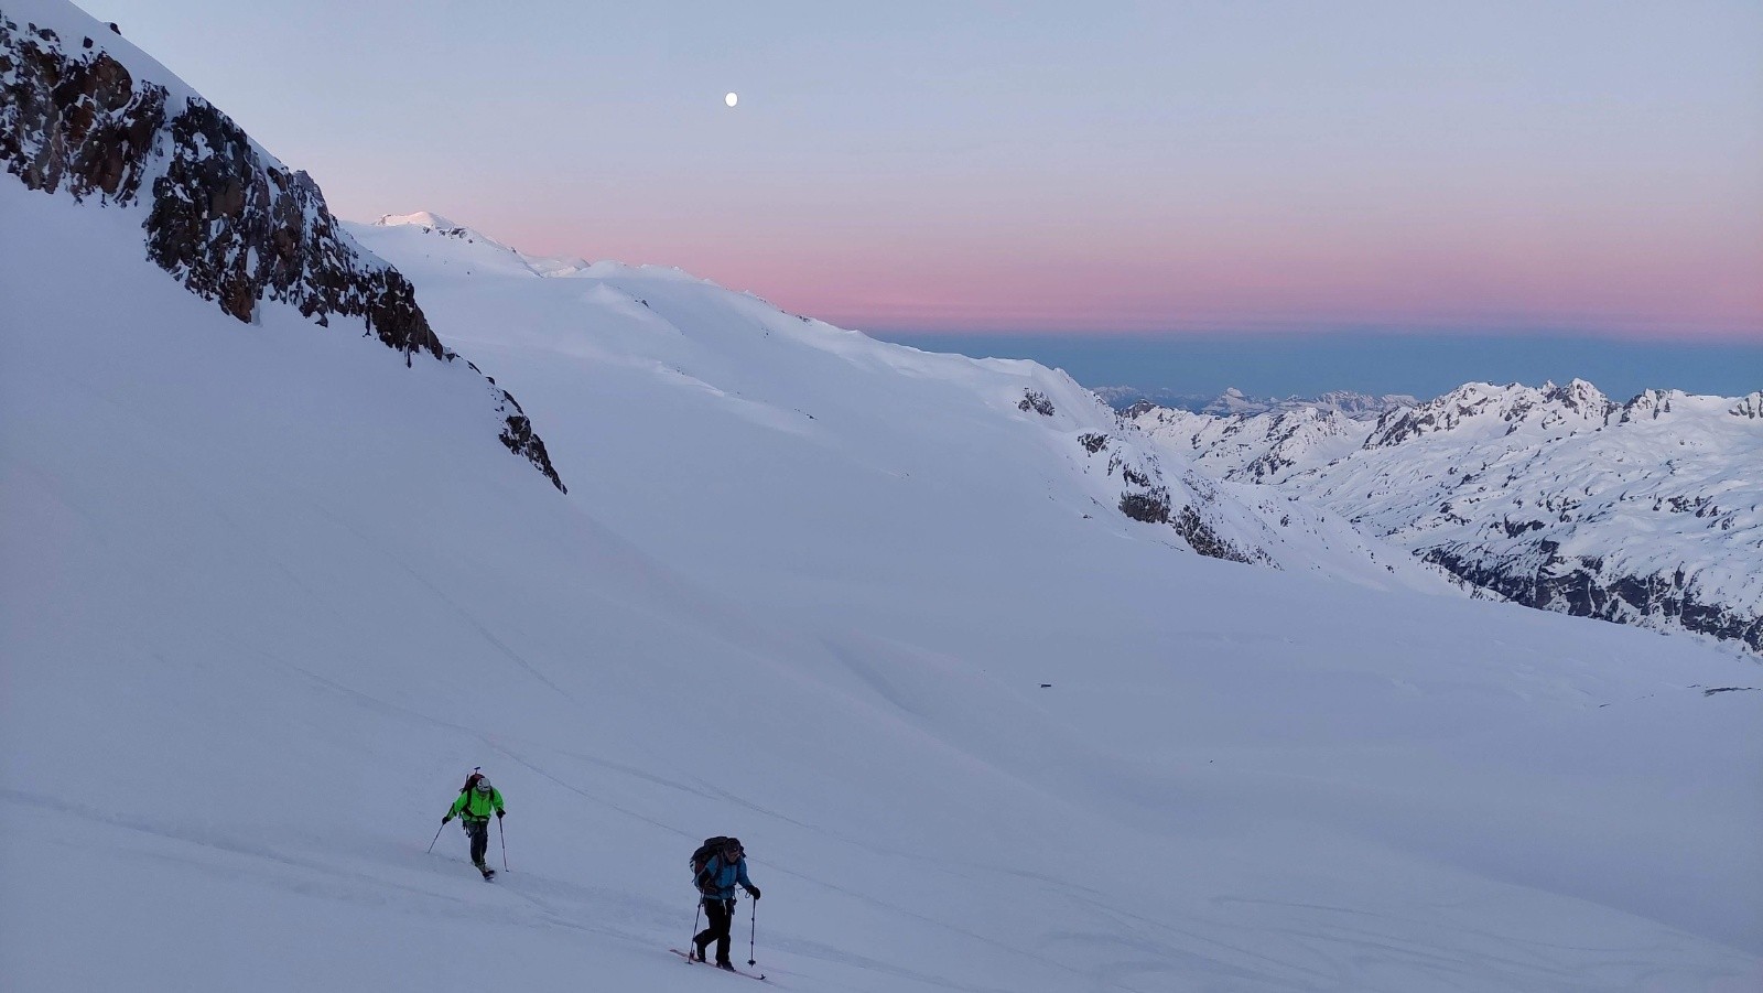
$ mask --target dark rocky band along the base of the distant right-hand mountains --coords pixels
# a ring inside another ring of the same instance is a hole
[[[1737,640],[1763,653],[1763,617],[1703,601],[1682,570],[1608,575],[1601,557],[1562,556],[1560,545],[1550,540],[1537,541],[1532,556],[1488,557],[1484,550],[1442,545],[1421,557],[1525,607],[1622,624],[1675,621],[1684,630]]]

